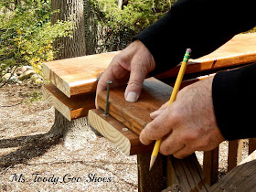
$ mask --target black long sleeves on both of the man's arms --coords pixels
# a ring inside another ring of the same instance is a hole
[[[154,76],[175,67],[187,48],[192,49],[191,58],[197,59],[219,48],[234,35],[255,27],[255,7],[255,0],[179,0],[163,18],[133,39],[142,41],[152,53],[156,64],[151,73]],[[256,67],[251,67],[251,70],[256,72]],[[244,112],[247,106],[240,105],[234,111],[234,105],[238,101],[243,102],[239,91],[242,85],[237,82],[243,80],[243,83],[255,84],[255,72],[250,73],[252,81],[246,81],[249,80],[246,77],[248,69],[220,72],[214,78],[212,90],[215,113],[219,129],[228,140],[256,136],[255,129],[251,130],[251,126],[248,126],[251,122],[243,123],[244,126],[240,127],[243,121],[248,120],[243,119],[245,114],[240,116],[240,112]],[[245,90],[242,94],[246,97],[251,94],[251,90]],[[228,101],[229,105],[225,105]],[[256,109],[256,99],[251,99],[252,102]],[[240,119],[231,120],[232,116],[226,118],[227,113],[231,115],[233,112],[237,112],[233,117],[240,116]],[[256,126],[256,123],[253,124]]]

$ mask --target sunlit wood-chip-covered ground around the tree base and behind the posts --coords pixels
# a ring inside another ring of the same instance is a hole
[[[0,89],[0,191],[138,190],[135,155],[123,155],[89,126],[49,142],[53,123],[54,108],[42,100],[41,86],[9,84]],[[245,141],[244,151],[246,147]],[[219,150],[222,176],[227,142]],[[196,154],[202,165],[202,153]]]

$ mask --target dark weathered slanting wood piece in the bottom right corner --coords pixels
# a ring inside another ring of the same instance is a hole
[[[251,154],[242,164],[233,168],[226,176],[223,176],[211,191],[256,191],[256,159]]]

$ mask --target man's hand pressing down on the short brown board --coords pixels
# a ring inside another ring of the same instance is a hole
[[[135,40],[112,59],[99,80],[96,93],[106,90],[107,80],[112,80],[112,87],[124,85],[129,80],[124,98],[126,101],[137,101],[144,79],[153,69],[155,69],[155,59],[152,54],[141,41]]]

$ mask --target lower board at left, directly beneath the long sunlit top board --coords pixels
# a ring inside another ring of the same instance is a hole
[[[68,98],[53,84],[42,88],[44,99],[48,100],[69,121],[84,117],[88,111],[95,108],[95,93],[88,92]]]

